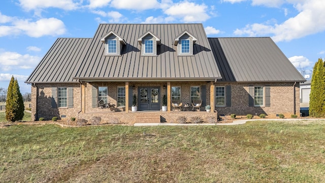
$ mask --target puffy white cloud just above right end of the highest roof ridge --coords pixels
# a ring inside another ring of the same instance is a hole
[[[198,5],[190,2],[176,3],[165,14],[180,18],[183,22],[203,22],[210,18],[206,13],[208,7],[205,4]]]

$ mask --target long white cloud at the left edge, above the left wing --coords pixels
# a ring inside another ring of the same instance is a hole
[[[0,37],[25,34],[30,37],[57,36],[66,33],[64,23],[56,18],[42,18],[35,22],[27,19],[12,19],[12,25],[0,26]]]

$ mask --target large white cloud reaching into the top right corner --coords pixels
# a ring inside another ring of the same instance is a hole
[[[249,36],[274,35],[272,39],[275,42],[278,42],[290,41],[325,31],[324,1],[304,1],[303,4],[294,4],[294,7],[300,11],[300,13],[295,17],[287,19],[281,24],[249,24],[244,28],[236,29],[234,34]]]

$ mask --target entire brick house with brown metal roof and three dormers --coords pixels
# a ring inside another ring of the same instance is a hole
[[[202,24],[100,24],[93,38],[58,38],[25,82],[35,120],[114,116],[133,123],[206,119],[216,111],[295,114],[302,81],[271,38],[207,38]],[[197,112],[172,111],[174,103],[193,101],[201,104]],[[199,112],[206,105],[212,110]]]

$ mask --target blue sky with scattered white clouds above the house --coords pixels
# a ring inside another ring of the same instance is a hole
[[[0,87],[20,92],[57,38],[92,38],[100,23],[202,23],[208,37],[271,37],[305,74],[325,57],[324,0],[2,0]]]

